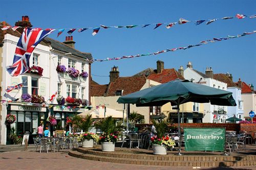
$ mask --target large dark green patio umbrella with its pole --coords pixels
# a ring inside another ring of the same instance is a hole
[[[168,102],[172,105],[177,105],[179,134],[180,104],[190,101],[198,103],[210,102],[215,105],[237,105],[231,92],[179,79],[121,96],[117,100],[118,103],[136,104],[137,107],[164,105]],[[178,155],[181,155],[180,146]]]

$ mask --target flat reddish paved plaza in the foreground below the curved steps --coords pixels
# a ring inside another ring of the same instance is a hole
[[[2,147],[1,147],[2,146]],[[120,163],[109,163],[90,161],[74,158],[68,152],[39,153],[33,152],[33,146],[29,151],[24,151],[24,146],[0,146],[0,169],[197,169],[200,167],[170,167],[170,166],[148,166],[131,165]],[[16,150],[16,151],[15,151]],[[10,152],[11,151],[11,152]],[[253,166],[243,167],[212,167],[200,169],[256,169]]]

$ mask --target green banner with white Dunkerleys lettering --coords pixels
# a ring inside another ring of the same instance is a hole
[[[224,151],[225,128],[184,128],[186,151]]]

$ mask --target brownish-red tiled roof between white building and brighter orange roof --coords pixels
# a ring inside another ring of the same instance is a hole
[[[145,76],[119,77],[115,82],[110,82],[106,96],[115,96],[117,90],[123,90],[122,95],[137,92],[145,83]]]

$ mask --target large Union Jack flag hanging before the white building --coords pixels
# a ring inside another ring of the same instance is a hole
[[[41,30],[40,28],[25,28],[20,36],[15,50],[13,63],[6,69],[11,76],[24,74],[29,70],[29,58],[35,47],[47,35],[51,34],[54,29]]]

